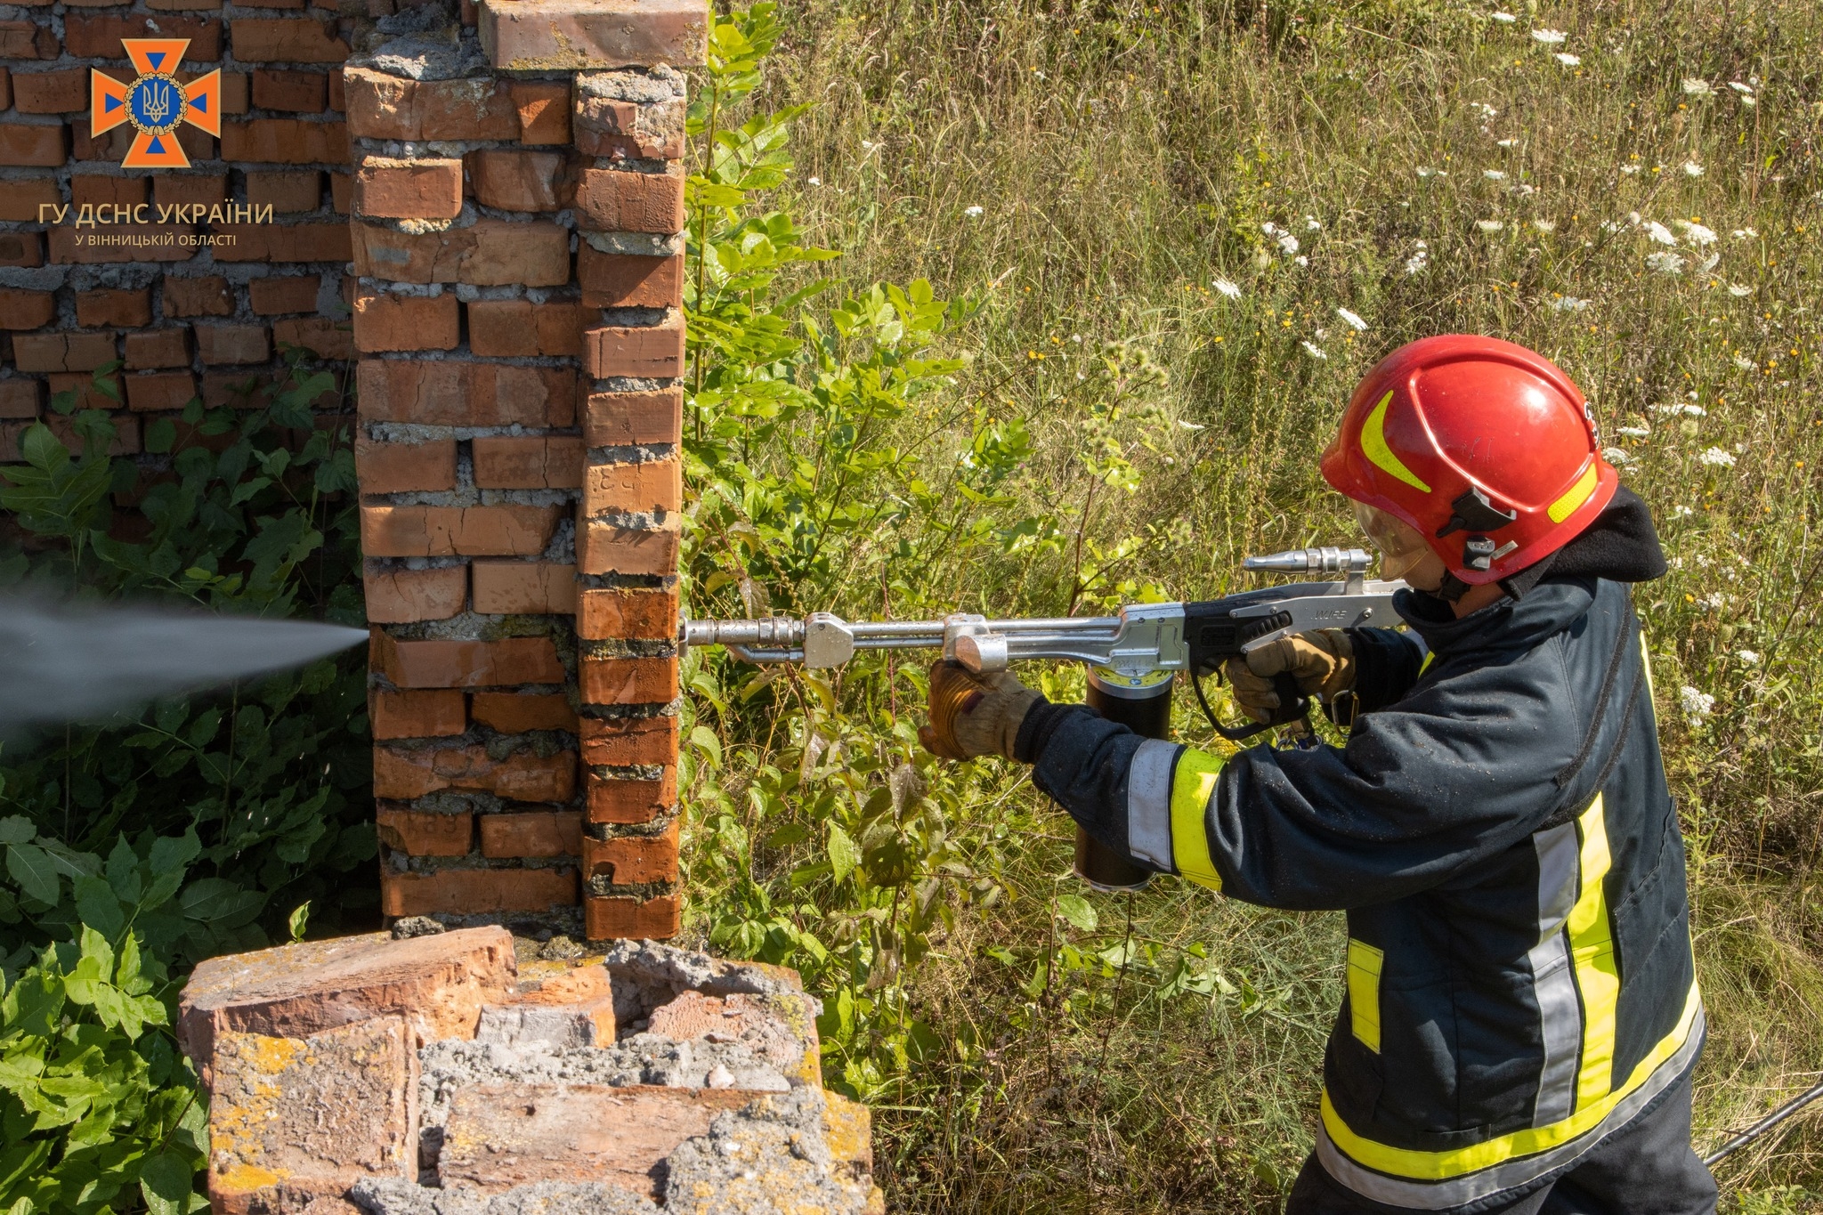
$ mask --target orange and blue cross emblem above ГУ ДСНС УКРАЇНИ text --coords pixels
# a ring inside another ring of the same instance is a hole
[[[177,64],[190,38],[122,38],[139,77],[120,84],[89,73],[89,131],[100,135],[131,122],[137,135],[128,148],[126,169],[188,169],[190,157],[177,146],[177,128],[190,124],[210,135],[222,133],[222,73],[179,84]]]

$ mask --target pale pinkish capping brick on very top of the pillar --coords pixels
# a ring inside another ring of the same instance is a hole
[[[483,5],[479,29],[487,58],[500,71],[689,67],[707,51],[707,11],[696,0],[644,0],[638,20],[598,0],[516,0]]]

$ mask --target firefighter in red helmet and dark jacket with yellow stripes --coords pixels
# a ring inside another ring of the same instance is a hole
[[[1644,503],[1570,377],[1488,337],[1393,352],[1322,474],[1406,579],[1406,628],[1287,638],[1227,674],[1265,720],[1291,672],[1344,747],[1209,754],[953,663],[924,745],[1030,763],[1158,873],[1347,913],[1287,1211],[1714,1211],[1684,847],[1628,588],[1664,574]]]

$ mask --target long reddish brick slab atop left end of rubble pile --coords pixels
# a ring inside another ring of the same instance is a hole
[[[512,934],[501,927],[279,945],[202,962],[179,1002],[177,1038],[211,1084],[222,1033],[306,1038],[399,1015],[414,1047],[472,1038],[481,1006],[509,1002],[514,980]]]

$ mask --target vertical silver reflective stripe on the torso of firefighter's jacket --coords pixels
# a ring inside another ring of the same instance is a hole
[[[1577,905],[1581,854],[1577,825],[1562,823],[1531,836],[1539,853],[1539,944],[1531,960],[1531,991],[1539,1000],[1539,1035],[1544,1067],[1539,1071],[1539,1104],[1531,1124],[1562,1122],[1575,1111],[1577,1055],[1582,1049],[1582,1000],[1570,965],[1564,922]]]

